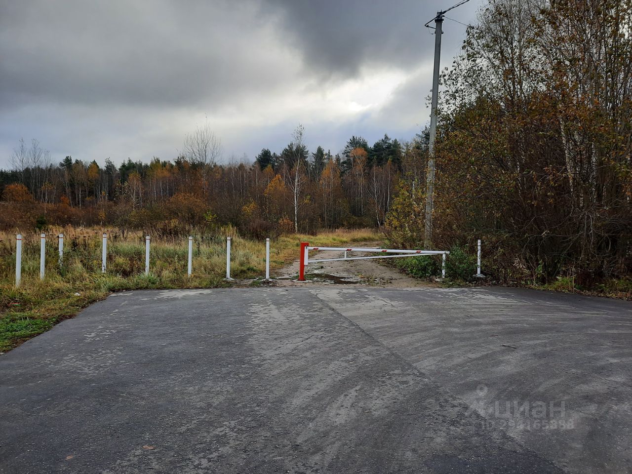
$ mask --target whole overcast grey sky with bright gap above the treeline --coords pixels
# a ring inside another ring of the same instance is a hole
[[[224,161],[428,122],[434,36],[456,0],[0,0],[0,167],[20,138],[54,161],[171,159],[208,121]],[[451,11],[475,20],[482,0]],[[465,26],[444,22],[442,66]]]

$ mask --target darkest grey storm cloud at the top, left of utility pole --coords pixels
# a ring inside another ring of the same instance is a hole
[[[283,28],[296,40],[306,66],[322,75],[334,76],[353,76],[363,66],[376,64],[416,67],[433,54],[434,42],[428,41],[431,30],[423,25],[437,10],[452,5],[451,0],[264,2],[279,9]],[[449,16],[467,21],[478,3],[471,1]],[[444,35],[442,40],[447,51],[454,51],[463,37]]]

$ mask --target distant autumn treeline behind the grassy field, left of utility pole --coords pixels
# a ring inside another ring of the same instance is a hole
[[[252,163],[218,164],[219,140],[202,126],[173,162],[128,159],[118,167],[70,156],[52,163],[37,140],[22,140],[13,169],[0,171],[0,227],[110,225],[167,236],[232,224],[264,237],[383,225],[410,145],[352,137],[332,155],[310,152],[303,135],[298,126],[279,153],[263,149]]]

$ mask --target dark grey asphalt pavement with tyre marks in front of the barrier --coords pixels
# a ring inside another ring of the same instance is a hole
[[[631,472],[631,333],[519,289],[119,293],[0,356],[0,472]]]

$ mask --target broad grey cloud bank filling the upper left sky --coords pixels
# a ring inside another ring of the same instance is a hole
[[[8,3],[0,24],[1,103],[182,106],[283,82],[277,71],[286,58],[265,50],[274,32],[257,28],[256,3],[184,4]]]

